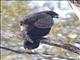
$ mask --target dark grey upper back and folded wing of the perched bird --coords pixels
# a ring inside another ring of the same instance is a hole
[[[51,28],[53,18],[46,13],[35,13],[26,17],[26,21],[37,28]]]

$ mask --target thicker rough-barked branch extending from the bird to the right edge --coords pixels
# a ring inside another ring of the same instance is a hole
[[[68,44],[68,43],[65,43],[65,44],[56,44],[56,43],[50,43],[50,42],[47,42],[47,41],[42,41],[42,43],[48,44],[48,45],[51,45],[51,46],[60,47],[60,48],[66,49],[68,51],[80,54],[80,48],[78,48],[76,46],[73,46],[71,44]]]

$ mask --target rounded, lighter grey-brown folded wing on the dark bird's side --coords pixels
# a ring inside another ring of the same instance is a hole
[[[34,23],[34,26],[38,28],[51,28],[52,25],[53,25],[53,18],[49,14],[45,13],[41,14],[38,20]]]

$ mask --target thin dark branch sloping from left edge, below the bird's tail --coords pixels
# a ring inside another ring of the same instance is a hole
[[[51,44],[51,45],[53,45],[53,44]],[[56,45],[56,44],[54,44],[54,45]],[[58,45],[56,45],[56,46],[58,46]],[[39,53],[39,52],[29,52],[29,51],[25,52],[25,51],[19,51],[19,50],[11,49],[11,48],[8,48],[8,47],[2,47],[2,46],[0,46],[0,48],[11,51],[11,52],[19,53],[19,54],[34,54],[34,55],[38,54],[38,55],[44,57],[45,59],[52,59],[52,58],[57,57],[57,58],[60,58],[60,59],[72,60],[72,58],[65,58],[65,57],[55,56],[53,53],[49,54],[49,53]],[[73,60],[75,60],[75,59],[73,59]]]

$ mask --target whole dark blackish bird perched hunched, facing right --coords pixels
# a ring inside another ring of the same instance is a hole
[[[54,24],[53,18],[58,18],[54,11],[41,11],[26,15],[20,20],[20,29],[24,33],[24,48],[36,49]]]

